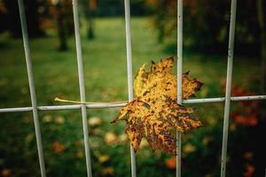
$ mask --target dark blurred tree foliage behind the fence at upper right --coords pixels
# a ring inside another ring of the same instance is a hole
[[[154,27],[162,42],[176,42],[176,0],[146,0],[154,13]],[[184,0],[184,44],[201,52],[227,51],[231,1]],[[236,52],[257,55],[259,27],[256,2],[241,1],[237,8]],[[174,40],[171,40],[174,39]],[[249,52],[249,53],[248,53]]]

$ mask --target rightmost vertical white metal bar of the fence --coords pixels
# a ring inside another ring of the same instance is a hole
[[[233,62],[233,53],[234,53],[236,12],[237,12],[237,0],[231,0],[231,21],[230,21],[230,32],[229,32],[226,91],[225,91],[225,104],[224,104],[224,116],[223,116],[223,147],[222,147],[222,160],[221,160],[222,163],[221,177],[224,177],[226,173],[228,127],[229,127],[230,104],[231,104],[231,75],[232,75],[232,62]]]

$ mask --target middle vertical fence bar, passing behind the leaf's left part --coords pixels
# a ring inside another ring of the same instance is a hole
[[[129,102],[133,100],[133,81],[132,81],[132,50],[131,50],[131,29],[130,29],[130,3],[124,0],[125,23],[126,23],[126,43],[127,43],[127,67],[128,67],[128,89]],[[136,155],[130,144],[131,176],[136,177]]]

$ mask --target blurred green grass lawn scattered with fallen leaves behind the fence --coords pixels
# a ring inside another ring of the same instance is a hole
[[[149,63],[152,59],[158,62],[160,58],[169,56],[176,58],[176,53],[166,52],[164,45],[157,42],[156,32],[149,19],[132,19],[131,23],[133,73],[136,73],[140,65]],[[84,27],[82,30],[85,31]],[[127,100],[124,19],[97,19],[95,34],[95,40],[89,41],[86,34],[82,33],[86,99],[90,102]],[[69,38],[68,46],[69,50],[59,52],[58,39],[54,35],[30,39],[38,105],[60,104],[53,101],[56,96],[79,100],[74,37]],[[0,107],[29,106],[30,96],[22,41],[1,35],[0,53]],[[197,97],[224,95],[226,61],[226,54],[224,56],[208,56],[206,53],[184,54],[184,71],[191,71],[193,77],[205,83]],[[257,92],[256,83],[260,76],[259,63],[256,58],[236,58],[233,83],[244,85],[246,89]],[[198,165],[202,166],[199,169],[199,176],[219,173],[222,105],[193,105],[199,107],[196,112],[206,127],[184,135],[184,147],[189,143],[196,149],[192,152],[188,150],[187,154],[184,154],[184,176],[193,176],[195,173],[193,171],[196,170],[194,168]],[[88,111],[89,119],[98,117],[102,120],[100,125],[89,127],[94,176],[129,176],[129,142],[124,141],[124,124],[110,125],[109,123],[118,110]],[[48,176],[85,176],[81,112],[79,110],[40,112],[40,120]],[[209,125],[217,125],[217,128],[211,128]],[[1,113],[0,128],[0,170],[9,170],[11,176],[38,176],[39,166],[32,114],[30,112]],[[201,143],[207,134],[218,137],[212,147],[214,149],[216,147],[216,150],[211,153]],[[108,138],[111,140],[113,138],[113,142]],[[159,151],[153,153],[145,143],[142,147],[137,153],[139,176],[173,176],[175,174],[175,170],[169,169],[165,164],[165,158],[169,158],[168,155],[161,154]],[[210,157],[212,153],[216,158]],[[192,165],[192,162],[185,160],[186,157],[187,159],[198,158],[198,161]],[[200,158],[208,160],[208,164],[202,165]]]

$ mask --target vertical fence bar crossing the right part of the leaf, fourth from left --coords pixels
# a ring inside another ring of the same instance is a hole
[[[177,104],[182,104],[183,0],[177,0]],[[181,177],[181,133],[176,131],[176,176]]]

